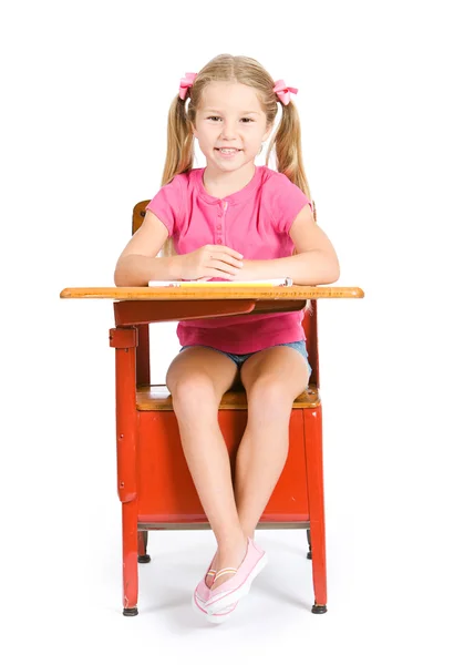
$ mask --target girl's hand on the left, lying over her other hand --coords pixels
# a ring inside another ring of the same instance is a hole
[[[241,254],[226,245],[204,245],[189,254],[180,254],[180,279],[223,277],[234,279],[243,268]]]

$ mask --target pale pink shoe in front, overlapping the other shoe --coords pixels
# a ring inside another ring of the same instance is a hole
[[[230,580],[215,589],[208,590],[208,598],[205,602],[205,610],[209,614],[217,614],[225,611],[228,606],[249,593],[250,585],[255,577],[264,570],[268,563],[268,556],[250,538],[248,538],[248,548],[246,556],[239,569],[223,569],[218,571],[215,581],[224,574],[236,573]],[[207,587],[208,589],[208,587]]]

